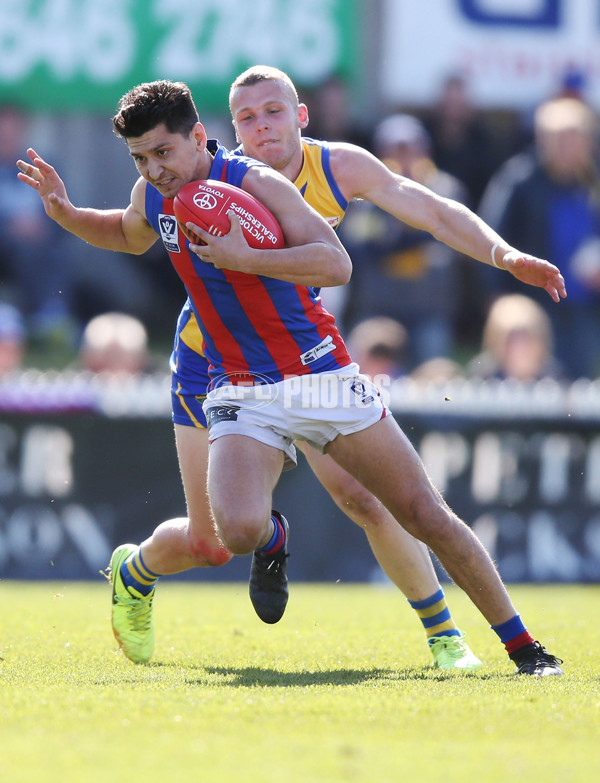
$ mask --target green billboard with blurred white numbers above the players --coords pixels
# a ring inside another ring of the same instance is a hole
[[[112,111],[134,84],[187,82],[222,110],[264,63],[310,86],[360,68],[359,0],[0,0],[0,102]]]

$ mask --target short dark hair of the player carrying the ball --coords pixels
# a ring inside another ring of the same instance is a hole
[[[187,84],[162,79],[138,84],[126,92],[113,117],[113,128],[119,136],[130,138],[164,123],[169,133],[187,136],[198,121]]]

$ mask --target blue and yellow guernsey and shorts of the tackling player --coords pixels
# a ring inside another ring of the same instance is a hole
[[[331,173],[329,144],[303,138],[302,151],[302,169],[294,185],[305,201],[337,229],[346,213],[348,202]],[[177,321],[170,366],[173,421],[187,426],[206,427],[202,402],[210,382],[208,361],[204,356],[204,341],[189,299]]]

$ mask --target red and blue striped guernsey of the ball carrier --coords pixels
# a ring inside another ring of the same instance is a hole
[[[230,153],[215,140],[209,141],[209,150],[214,155],[209,178],[238,187],[250,167],[264,165]],[[334,318],[315,289],[201,261],[178,229],[172,199],[149,183],[146,217],[186,287],[212,381],[226,375],[234,382],[278,382],[335,372],[351,363]]]

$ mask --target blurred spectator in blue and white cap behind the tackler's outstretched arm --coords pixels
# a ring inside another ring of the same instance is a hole
[[[429,136],[418,119],[392,115],[376,128],[374,141],[377,155],[394,173],[464,203],[464,186],[431,160]],[[447,356],[454,348],[461,256],[367,201],[352,204],[340,236],[354,265],[346,328],[373,315],[396,318],[410,337],[409,369]]]

